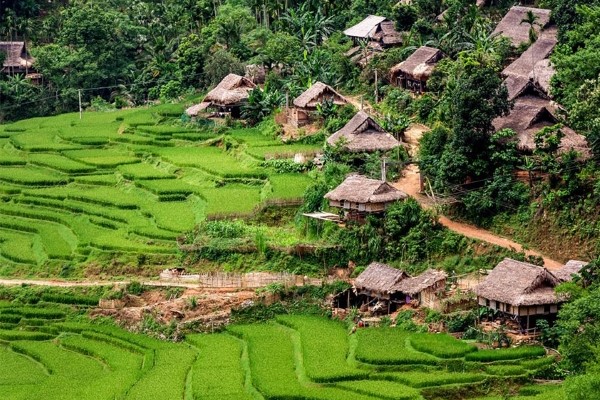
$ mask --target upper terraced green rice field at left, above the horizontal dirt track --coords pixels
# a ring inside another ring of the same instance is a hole
[[[320,146],[260,128],[190,127],[182,113],[167,104],[0,125],[0,274],[123,253],[172,257],[176,238],[207,217],[299,199],[311,183],[260,164]]]

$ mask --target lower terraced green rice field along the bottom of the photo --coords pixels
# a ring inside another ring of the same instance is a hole
[[[465,356],[478,350],[443,334],[395,328],[349,334],[341,322],[286,315],[171,343],[69,322],[67,306],[45,304],[0,307],[3,399],[424,400],[451,393],[489,400],[565,398],[559,385],[527,386],[551,359],[533,352],[512,358],[514,351],[494,350],[497,361],[467,361]],[[381,342],[371,342],[373,332]],[[371,362],[358,360],[358,354],[390,348],[400,337],[404,347],[394,347],[393,357],[380,350]],[[419,352],[413,342],[428,343],[431,350]],[[446,346],[449,351],[442,350]],[[417,354],[428,362],[419,362]],[[517,388],[525,385],[521,394],[498,394],[509,381]]]

